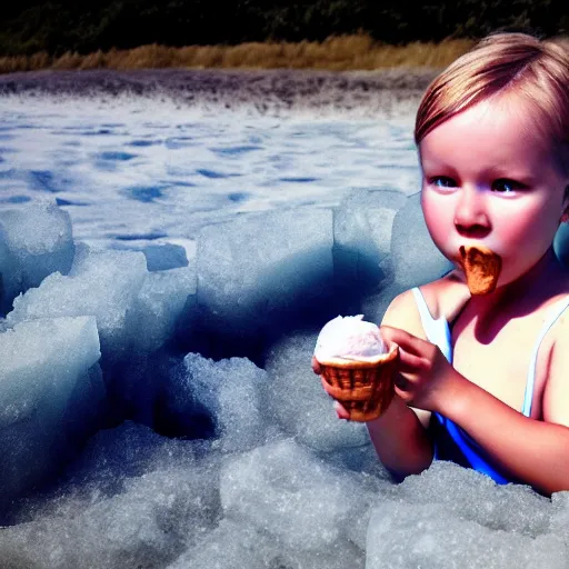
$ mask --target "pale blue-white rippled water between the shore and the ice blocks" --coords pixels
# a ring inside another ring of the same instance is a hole
[[[0,108],[0,206],[50,194],[81,241],[188,244],[236,216],[330,207],[350,188],[418,188],[409,104],[386,120],[22,97]]]

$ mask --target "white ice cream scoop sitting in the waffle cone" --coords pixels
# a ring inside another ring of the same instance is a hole
[[[373,361],[386,352],[377,325],[363,321],[363,315],[338,316],[320,331],[315,357],[322,363],[337,359]]]

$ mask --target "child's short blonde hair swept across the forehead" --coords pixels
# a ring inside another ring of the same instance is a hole
[[[485,100],[515,97],[569,174],[569,38],[493,33],[458,58],[427,88],[415,126],[417,146],[435,128]]]

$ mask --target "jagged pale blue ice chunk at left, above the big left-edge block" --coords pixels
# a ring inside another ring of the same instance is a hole
[[[104,358],[124,356],[133,330],[133,306],[147,276],[144,256],[78,248],[69,276],[50,274],[14,300],[7,322],[62,316],[94,316]]]

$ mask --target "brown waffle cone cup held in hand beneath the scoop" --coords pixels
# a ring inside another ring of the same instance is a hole
[[[377,419],[393,399],[393,378],[399,347],[376,361],[320,361],[328,392],[350,413],[351,421]]]

